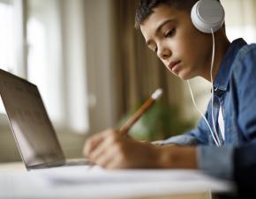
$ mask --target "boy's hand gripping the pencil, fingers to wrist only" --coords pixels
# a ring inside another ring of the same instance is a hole
[[[84,154],[104,168],[159,167],[160,147],[109,129],[87,139]]]

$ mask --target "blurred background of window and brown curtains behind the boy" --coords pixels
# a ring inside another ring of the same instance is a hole
[[[0,0],[0,68],[38,85],[67,158],[86,137],[117,128],[124,114],[162,87],[162,103],[196,123],[187,86],[149,51],[134,29],[138,0]],[[222,0],[230,41],[256,41],[256,2]],[[206,109],[209,84],[192,80]],[[0,161],[19,160],[3,105]]]

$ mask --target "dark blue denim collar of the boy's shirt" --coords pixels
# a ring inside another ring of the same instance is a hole
[[[230,44],[230,47],[224,55],[224,58],[222,59],[222,63],[220,65],[220,69],[218,70],[215,77],[214,86],[216,89],[220,89],[222,91],[227,90],[230,80],[231,65],[234,62],[239,49],[245,45],[246,42],[242,38],[232,41],[232,43]]]

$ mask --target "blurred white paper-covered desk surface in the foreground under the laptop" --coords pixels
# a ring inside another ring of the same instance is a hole
[[[0,164],[0,199],[209,199],[211,193],[233,191],[230,181],[194,170],[109,171],[69,166],[26,172],[22,163]]]

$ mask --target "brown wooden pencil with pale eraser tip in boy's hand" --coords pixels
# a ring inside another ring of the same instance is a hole
[[[139,109],[135,112],[135,114],[132,114],[132,117],[124,123],[124,126],[122,126],[119,129],[120,134],[126,134],[128,133],[129,129],[132,128],[132,125],[139,120],[142,114],[146,113],[146,111],[154,105],[154,102],[157,99],[160,99],[162,96],[162,88],[158,88],[154,91],[154,93],[151,95],[149,99],[147,99],[144,104],[139,107]]]

